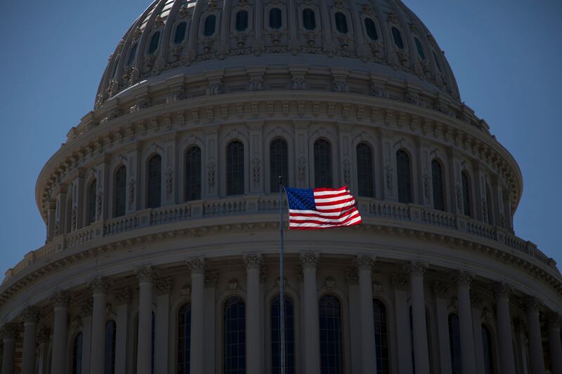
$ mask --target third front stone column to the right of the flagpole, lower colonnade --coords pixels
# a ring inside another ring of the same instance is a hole
[[[424,273],[426,268],[426,264],[417,261],[408,262],[405,267],[410,274],[416,374],[429,374],[429,347],[427,346],[426,302],[424,297]]]

